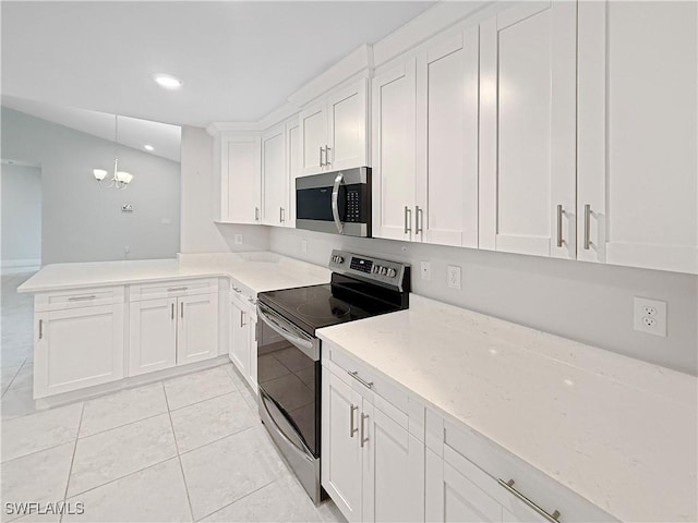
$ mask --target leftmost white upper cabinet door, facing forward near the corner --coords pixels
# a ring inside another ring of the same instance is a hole
[[[224,178],[227,178],[228,220],[232,223],[258,223],[261,199],[260,137],[226,137]]]

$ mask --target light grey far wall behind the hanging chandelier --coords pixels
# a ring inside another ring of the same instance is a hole
[[[119,166],[134,179],[117,191],[92,174],[111,171],[113,155],[109,141],[2,108],[3,158],[41,166],[44,265],[177,255],[179,163],[121,146]],[[122,204],[134,211],[121,212]]]

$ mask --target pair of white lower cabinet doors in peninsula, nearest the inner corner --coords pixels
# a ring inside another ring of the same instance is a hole
[[[129,316],[129,376],[217,355],[217,293],[133,301]]]

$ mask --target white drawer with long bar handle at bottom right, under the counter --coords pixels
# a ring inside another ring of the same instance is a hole
[[[576,492],[495,447],[484,437],[449,422],[443,424],[443,457],[445,463],[478,484],[504,509],[522,521],[546,520],[502,482],[513,479],[515,483],[512,486],[516,491],[547,513],[559,511],[559,521],[616,521]]]

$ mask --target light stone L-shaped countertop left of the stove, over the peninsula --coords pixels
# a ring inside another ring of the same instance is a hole
[[[180,254],[178,259],[139,259],[47,265],[19,292],[127,285],[202,277],[229,277],[252,292],[329,281],[329,269],[268,252]]]

